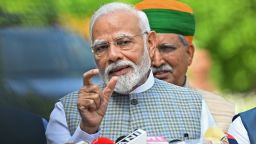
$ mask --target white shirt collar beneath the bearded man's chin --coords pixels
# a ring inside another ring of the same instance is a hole
[[[147,91],[154,85],[154,83],[155,83],[155,79],[154,79],[152,71],[150,71],[146,82],[144,84],[142,84],[141,86],[137,87],[136,89],[134,89],[132,92],[130,92],[130,94],[141,93],[141,92]]]

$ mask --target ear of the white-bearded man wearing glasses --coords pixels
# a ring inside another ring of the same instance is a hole
[[[150,59],[153,59],[156,50],[156,32],[151,31],[148,33],[148,52]]]

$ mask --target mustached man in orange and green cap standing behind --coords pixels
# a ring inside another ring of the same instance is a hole
[[[176,0],[144,0],[136,4],[136,8],[146,13],[151,29],[157,32],[157,49],[151,64],[154,76],[189,87],[186,72],[193,59],[195,32],[192,9]],[[217,126],[226,131],[234,106],[218,95],[197,90],[206,100]]]

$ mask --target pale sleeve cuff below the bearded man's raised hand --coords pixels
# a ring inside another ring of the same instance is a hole
[[[83,130],[81,130],[80,126],[78,126],[73,136],[69,139],[69,142],[77,143],[80,141],[85,141],[85,142],[91,143],[94,139],[98,137],[100,137],[100,130],[95,134],[88,134]]]

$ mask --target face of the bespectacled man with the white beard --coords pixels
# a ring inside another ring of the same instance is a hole
[[[147,43],[138,18],[128,11],[103,15],[95,21],[92,34],[100,75],[105,82],[118,76],[115,91],[129,93],[150,68]]]

